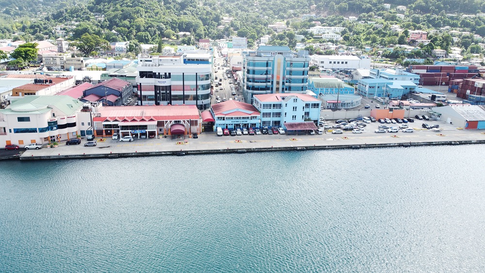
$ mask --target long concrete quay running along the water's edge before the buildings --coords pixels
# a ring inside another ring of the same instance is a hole
[[[133,142],[119,142],[111,138],[98,142],[96,147],[81,145],[65,145],[57,148],[42,148],[27,150],[20,156],[21,160],[62,159],[62,158],[97,158],[97,157],[129,157],[148,155],[184,155],[201,153],[244,153],[256,151],[332,149],[332,148],[363,148],[391,147],[414,145],[459,145],[469,143],[485,143],[485,133],[482,130],[463,130],[443,122],[438,123],[441,132],[421,130],[421,122],[409,124],[416,128],[413,133],[374,133],[379,123],[368,124],[362,134],[344,132],[323,135],[242,135],[216,136],[213,132],[204,132],[199,138],[185,139],[156,138],[135,139]],[[392,125],[397,126],[397,125]],[[99,138],[97,138],[99,140]]]

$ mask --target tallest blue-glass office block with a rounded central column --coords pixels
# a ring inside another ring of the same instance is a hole
[[[243,56],[244,101],[253,102],[256,94],[306,93],[308,51],[295,54],[288,47],[260,46],[256,53]]]

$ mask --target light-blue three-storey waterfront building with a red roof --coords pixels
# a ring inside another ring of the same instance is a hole
[[[255,95],[253,105],[261,112],[261,126],[286,129],[285,123],[318,121],[321,101],[307,94],[265,94]]]

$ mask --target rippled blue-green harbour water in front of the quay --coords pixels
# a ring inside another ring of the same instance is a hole
[[[0,272],[485,272],[484,154],[0,161]]]

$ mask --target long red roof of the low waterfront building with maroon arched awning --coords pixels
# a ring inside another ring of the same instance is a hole
[[[195,105],[103,106],[94,121],[189,120],[200,119]]]

